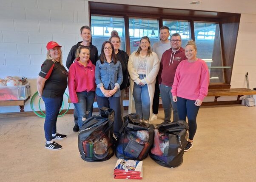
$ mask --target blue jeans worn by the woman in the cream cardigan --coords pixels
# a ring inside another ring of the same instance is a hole
[[[143,79],[146,75],[139,74],[139,79]],[[135,102],[136,113],[139,114],[140,119],[149,119],[150,115],[150,97],[148,94],[148,85],[137,85],[134,83],[134,90],[132,93]]]

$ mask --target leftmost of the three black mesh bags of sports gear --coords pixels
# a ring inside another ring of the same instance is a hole
[[[97,162],[114,155],[114,110],[101,108],[99,116],[86,119],[78,134],[78,149],[83,160]]]

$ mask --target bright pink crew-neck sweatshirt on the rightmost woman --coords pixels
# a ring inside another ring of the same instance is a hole
[[[187,59],[179,63],[172,85],[173,96],[196,100],[207,96],[209,85],[208,67],[202,59],[190,63]]]

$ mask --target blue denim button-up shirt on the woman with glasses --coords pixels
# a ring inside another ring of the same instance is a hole
[[[100,97],[105,97],[100,87],[103,86],[105,90],[108,90],[109,85],[111,86],[111,90],[114,89],[115,85],[117,86],[118,90],[113,95],[113,97],[120,97],[120,85],[122,83],[122,65],[119,61],[114,64],[112,60],[110,63],[104,61],[102,64],[100,60],[96,62],[95,67],[95,82],[97,85],[96,94]]]

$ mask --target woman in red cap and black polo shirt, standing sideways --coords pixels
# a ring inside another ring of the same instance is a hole
[[[50,41],[46,45],[47,58],[41,66],[37,78],[37,91],[46,105],[44,124],[46,149],[58,150],[62,146],[54,140],[67,138],[67,135],[57,133],[56,122],[63,102],[63,94],[68,86],[68,72],[62,63],[62,52],[57,42]]]

